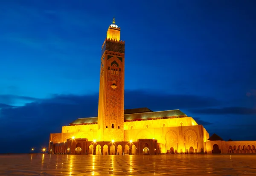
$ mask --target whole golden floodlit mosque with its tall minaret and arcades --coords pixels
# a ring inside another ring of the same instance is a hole
[[[102,45],[98,117],[78,118],[51,133],[49,154],[256,153],[256,141],[223,141],[180,110],[124,110],[125,41],[108,27]]]

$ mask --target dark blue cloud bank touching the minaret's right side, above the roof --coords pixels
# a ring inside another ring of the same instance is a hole
[[[145,90],[125,91],[125,108],[148,107],[152,110],[174,110],[198,107],[215,107],[221,101],[197,95],[172,95]]]

